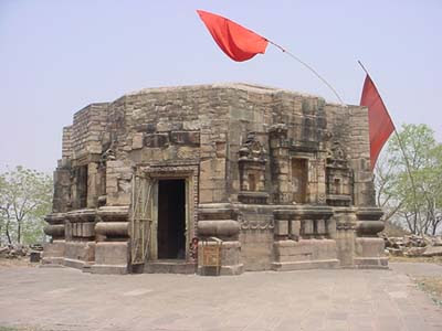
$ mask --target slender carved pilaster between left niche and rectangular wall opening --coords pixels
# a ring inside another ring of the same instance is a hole
[[[272,181],[274,183],[273,201],[278,204],[291,203],[293,200],[290,188],[290,157],[287,127],[274,125],[269,130]]]

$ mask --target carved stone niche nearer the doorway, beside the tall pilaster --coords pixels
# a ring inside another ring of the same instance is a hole
[[[239,151],[240,188],[238,200],[242,203],[265,204],[269,194],[265,192],[265,149],[256,139],[254,132],[248,135],[248,139]]]

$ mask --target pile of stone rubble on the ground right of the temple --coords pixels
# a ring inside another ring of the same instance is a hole
[[[386,250],[391,256],[442,256],[442,236],[406,235],[389,237],[382,234]]]

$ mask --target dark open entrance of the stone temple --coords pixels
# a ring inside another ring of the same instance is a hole
[[[158,182],[158,258],[186,258],[186,181]]]

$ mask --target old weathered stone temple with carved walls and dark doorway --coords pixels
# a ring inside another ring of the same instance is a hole
[[[63,129],[44,264],[387,268],[368,113],[250,84],[148,88]]]

